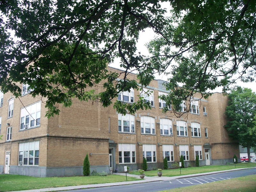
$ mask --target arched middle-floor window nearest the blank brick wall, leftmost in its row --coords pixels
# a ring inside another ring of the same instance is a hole
[[[118,132],[135,133],[134,116],[126,114],[125,116],[118,114]]]

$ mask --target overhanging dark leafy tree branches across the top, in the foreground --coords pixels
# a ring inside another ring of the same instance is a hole
[[[180,104],[196,92],[204,98],[219,86],[226,92],[235,74],[244,82],[254,81],[255,1],[172,0],[171,17],[164,16],[162,1],[2,1],[2,91],[19,97],[17,83],[29,84],[34,97],[47,98],[50,117],[59,113],[56,104],[69,107],[73,97],[107,107],[119,92],[139,89],[154,74],[165,73],[170,94],[162,96],[167,104],[163,111],[172,104],[179,114]],[[148,57],[136,52],[139,33],[146,28],[156,33]],[[116,57],[124,72],[108,72]],[[138,82],[127,78],[133,71]],[[104,89],[95,92],[95,86]],[[143,99],[116,101],[114,108],[125,114],[150,105]]]

